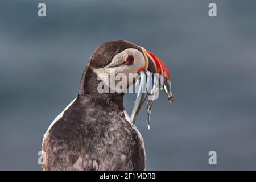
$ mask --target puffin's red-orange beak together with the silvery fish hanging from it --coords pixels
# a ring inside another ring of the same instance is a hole
[[[134,103],[133,111],[131,113],[131,122],[135,123],[135,119],[141,109],[146,97],[147,101],[147,126],[150,129],[150,114],[154,100],[158,97],[159,86],[160,89],[164,89],[164,93],[171,104],[174,102],[171,92],[171,77],[166,65],[153,53],[147,51],[142,47],[142,52],[144,55],[145,66],[138,70],[139,79],[137,84],[139,84],[139,89],[137,93],[137,98]]]

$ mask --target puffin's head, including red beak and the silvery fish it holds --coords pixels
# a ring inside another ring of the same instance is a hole
[[[96,84],[98,93],[101,92],[99,88],[108,86],[108,89],[101,94],[127,93],[131,85],[136,85],[137,98],[131,114],[131,122],[135,122],[139,110],[148,97],[149,129],[151,107],[158,97],[159,86],[166,93],[168,100],[171,103],[174,102],[170,80],[166,65],[153,53],[127,40],[113,40],[101,44],[93,52],[82,76],[79,96],[95,93]]]

